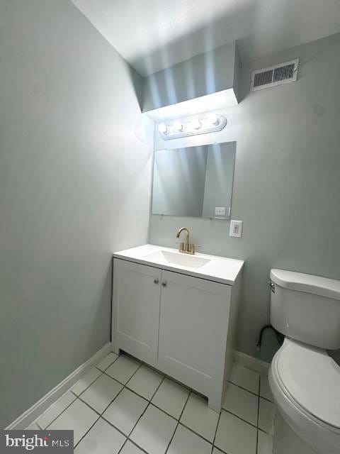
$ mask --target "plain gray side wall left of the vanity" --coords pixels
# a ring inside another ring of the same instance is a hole
[[[67,0],[0,2],[0,427],[110,340],[151,142],[124,60]]]

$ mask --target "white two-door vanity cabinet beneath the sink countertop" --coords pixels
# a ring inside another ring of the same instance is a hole
[[[113,351],[195,389],[220,411],[234,360],[241,273],[229,285],[153,265],[113,260]]]

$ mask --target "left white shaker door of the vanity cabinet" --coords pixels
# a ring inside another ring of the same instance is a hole
[[[121,348],[149,364],[157,360],[162,271],[113,261],[113,350]]]

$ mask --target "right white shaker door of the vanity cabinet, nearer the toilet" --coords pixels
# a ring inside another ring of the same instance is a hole
[[[230,288],[162,272],[160,368],[206,396],[212,389],[222,395]]]

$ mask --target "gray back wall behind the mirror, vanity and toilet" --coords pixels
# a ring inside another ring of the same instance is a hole
[[[229,237],[226,221],[151,216],[150,243],[174,247],[177,229],[188,226],[203,252],[245,260],[238,348],[264,360],[277,348],[266,336],[256,352],[269,320],[271,267],[340,279],[339,55],[338,34],[243,67],[244,99],[225,109],[225,130],[171,141],[237,140],[232,218],[244,221],[242,238]],[[295,57],[297,82],[249,93],[251,70]]]

